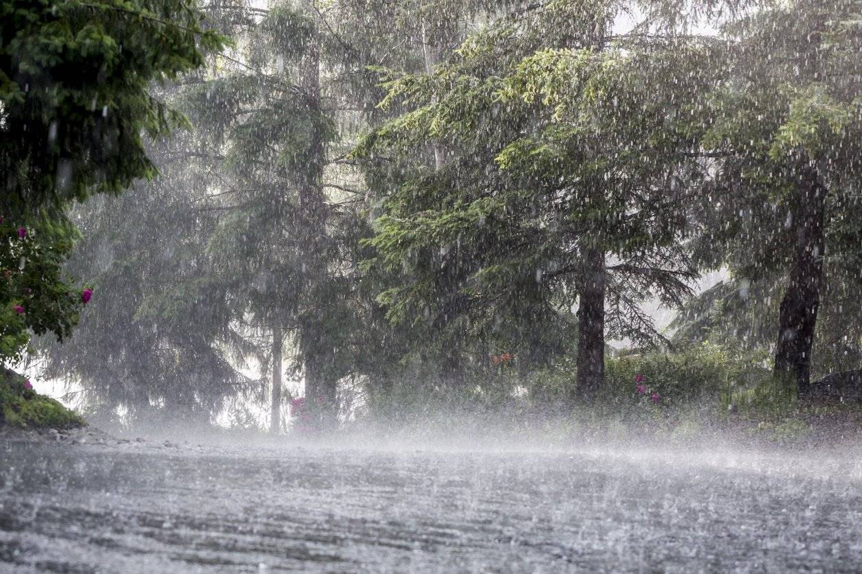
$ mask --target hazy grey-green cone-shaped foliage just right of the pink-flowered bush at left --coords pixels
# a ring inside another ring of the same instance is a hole
[[[175,170],[163,167],[166,176]],[[72,213],[84,238],[67,269],[91,277],[95,294],[71,339],[36,345],[48,358],[45,374],[81,383],[88,404],[122,405],[130,421],[164,404],[176,421],[209,422],[226,397],[261,386],[228,361],[247,344],[222,321],[233,302],[199,241],[214,217],[171,181],[93,198]]]

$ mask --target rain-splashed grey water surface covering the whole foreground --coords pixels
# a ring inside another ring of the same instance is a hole
[[[859,571],[856,456],[0,441],[0,571]]]

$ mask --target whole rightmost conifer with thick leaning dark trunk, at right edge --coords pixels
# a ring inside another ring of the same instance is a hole
[[[703,146],[718,159],[692,204],[705,222],[698,258],[784,281],[774,376],[790,397],[809,389],[825,293],[840,332],[859,332],[860,10],[765,3],[728,24],[724,80],[703,107]]]

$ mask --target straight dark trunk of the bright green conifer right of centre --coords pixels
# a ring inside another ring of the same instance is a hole
[[[576,392],[591,403],[604,380],[604,252],[586,250],[578,304],[578,382]]]

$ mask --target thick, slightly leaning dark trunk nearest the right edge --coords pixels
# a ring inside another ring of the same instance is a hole
[[[778,318],[773,377],[779,388],[799,396],[809,392],[811,384],[811,346],[820,306],[826,248],[826,188],[821,185],[815,168],[807,167],[802,171],[796,192],[793,222],[796,240],[790,282]]]

